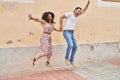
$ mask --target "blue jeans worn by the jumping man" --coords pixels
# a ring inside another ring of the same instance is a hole
[[[70,60],[70,62],[73,62],[75,53],[77,50],[77,43],[76,43],[76,39],[74,36],[74,32],[72,32],[70,30],[64,30],[63,36],[68,45],[67,50],[66,50],[65,59],[68,59],[68,60]]]

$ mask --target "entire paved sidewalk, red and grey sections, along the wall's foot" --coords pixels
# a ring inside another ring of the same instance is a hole
[[[4,75],[0,80],[120,80],[120,58]]]

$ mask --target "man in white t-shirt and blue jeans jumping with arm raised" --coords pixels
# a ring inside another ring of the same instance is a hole
[[[90,1],[88,0],[84,9],[80,7],[76,7],[74,12],[67,12],[60,17],[60,30],[61,31],[63,29],[63,20],[64,19],[66,20],[65,26],[63,29],[63,36],[68,45],[67,50],[66,50],[66,55],[65,55],[65,60],[68,65],[71,64],[72,66],[74,66],[73,64],[74,56],[77,50],[77,43],[76,43],[76,39],[74,36],[74,30],[75,30],[77,17],[85,13],[89,4],[90,4]]]

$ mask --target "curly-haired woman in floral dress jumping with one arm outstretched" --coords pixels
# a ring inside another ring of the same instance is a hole
[[[32,65],[35,65],[35,61],[39,58],[46,56],[46,66],[50,66],[49,62],[53,53],[52,43],[51,43],[51,33],[53,30],[59,31],[54,27],[55,22],[54,20],[54,13],[52,12],[44,12],[42,15],[42,19],[34,18],[31,14],[28,14],[29,20],[34,20],[36,22],[40,22],[43,28],[43,33],[40,38],[41,42],[41,49],[42,52],[38,53],[33,59],[32,59]]]

